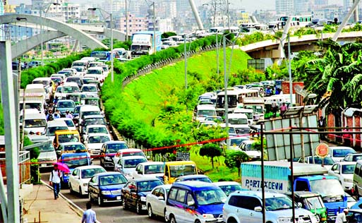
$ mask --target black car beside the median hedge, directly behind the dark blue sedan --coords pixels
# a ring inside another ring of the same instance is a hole
[[[115,140],[103,143],[99,162],[102,167],[114,167],[113,157],[119,152],[119,150],[128,149],[128,145],[125,141]]]

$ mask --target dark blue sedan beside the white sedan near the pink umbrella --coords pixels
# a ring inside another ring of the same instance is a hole
[[[121,203],[121,189],[127,179],[119,172],[104,172],[95,174],[88,183],[88,199],[97,200],[99,206],[107,202]]]

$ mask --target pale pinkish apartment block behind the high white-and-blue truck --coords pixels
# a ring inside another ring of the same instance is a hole
[[[128,25],[128,35],[132,35],[134,32],[147,30],[147,20],[145,17],[137,17],[133,14],[128,14],[128,23],[126,23],[126,17],[114,19],[114,29],[127,33],[126,25]]]

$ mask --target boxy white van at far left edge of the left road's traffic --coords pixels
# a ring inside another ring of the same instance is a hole
[[[47,127],[47,117],[44,113],[30,113],[23,117],[23,129],[26,133],[44,133]]]

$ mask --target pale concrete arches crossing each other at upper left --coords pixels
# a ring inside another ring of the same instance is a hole
[[[74,37],[76,40],[79,40],[82,42],[82,44],[85,44],[90,49],[95,49],[98,47],[106,49],[108,48],[106,45],[102,44],[102,42],[90,36],[90,33],[110,36],[111,32],[107,28],[97,28],[88,25],[70,25],[68,23],[59,22],[53,18],[14,13],[0,16],[0,24],[16,23],[19,18],[25,19],[27,23],[42,25],[44,28],[52,29],[54,31],[48,30],[47,32],[17,42],[11,47],[11,56],[13,58],[28,52],[30,49],[37,47],[42,42],[47,42],[49,40],[54,40],[67,35]],[[124,40],[125,35],[122,32],[116,31],[114,32],[114,38],[117,37],[119,37],[121,40],[123,38]]]

